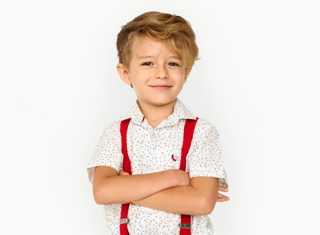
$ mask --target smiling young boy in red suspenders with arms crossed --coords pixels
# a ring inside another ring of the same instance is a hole
[[[137,100],[103,131],[87,166],[107,234],[212,234],[208,215],[228,200],[218,193],[228,185],[216,128],[177,98],[198,59],[189,22],[144,13],[122,27],[117,49],[119,76]],[[187,120],[196,120],[194,130],[184,129]],[[185,132],[193,136],[180,170]],[[185,215],[191,223],[182,222]]]

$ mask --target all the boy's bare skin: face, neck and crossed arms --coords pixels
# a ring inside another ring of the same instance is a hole
[[[191,72],[191,68],[181,68],[181,64],[178,54],[162,41],[142,37],[133,42],[129,65],[117,65],[120,78],[132,85],[152,128],[173,113],[177,96]],[[209,215],[216,202],[229,200],[218,191],[227,192],[227,189],[218,185],[217,178],[190,179],[188,172],[174,169],[129,175],[110,167],[96,167],[93,179],[98,204],[132,202],[186,215]]]

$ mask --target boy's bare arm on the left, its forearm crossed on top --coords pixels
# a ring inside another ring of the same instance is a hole
[[[98,204],[128,203],[170,187],[188,185],[189,182],[189,174],[181,170],[142,175],[118,175],[115,169],[103,166],[95,168],[93,194]]]

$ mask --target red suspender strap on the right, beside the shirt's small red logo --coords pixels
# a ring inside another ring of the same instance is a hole
[[[187,119],[184,130],[184,143],[182,144],[181,149],[181,161],[180,161],[180,170],[186,171],[186,157],[191,146],[191,141],[193,137],[194,128],[198,121]],[[190,235],[191,234],[191,216],[190,215],[181,215],[180,226],[180,235]]]

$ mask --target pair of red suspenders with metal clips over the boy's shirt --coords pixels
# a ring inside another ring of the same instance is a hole
[[[196,120],[187,119],[184,130],[184,142],[181,148],[181,161],[180,161],[180,170],[186,170],[186,157],[191,146],[191,141],[193,137],[194,128],[198,117]],[[122,154],[123,154],[123,171],[132,174],[131,172],[131,162],[128,156],[127,151],[127,129],[130,119],[126,119],[121,122],[120,132],[121,132],[121,141],[122,141]],[[129,203],[122,204],[121,206],[121,216],[120,216],[120,234],[129,235],[127,223],[128,223],[128,210]],[[181,215],[180,226],[180,235],[190,235],[191,234],[191,216],[190,215]]]

